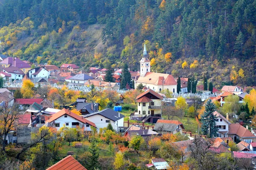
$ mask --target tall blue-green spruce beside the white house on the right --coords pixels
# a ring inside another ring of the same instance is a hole
[[[216,106],[214,103],[212,103],[212,100],[207,100],[205,104],[205,111],[204,114],[201,116],[202,120],[202,133],[204,135],[208,135],[209,137],[215,137],[217,136],[218,128],[216,127],[216,116],[213,114],[213,112],[216,111]]]

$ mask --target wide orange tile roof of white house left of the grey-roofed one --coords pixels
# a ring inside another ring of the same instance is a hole
[[[90,122],[89,120],[84,119],[82,116],[79,116],[79,115],[77,115],[77,114],[75,114],[72,111],[69,111],[67,109],[62,109],[61,111],[58,111],[57,113],[53,114],[52,117],[50,119],[48,119],[47,121],[45,121],[45,122],[50,123],[50,122],[58,119],[59,117],[65,115],[65,114],[73,117],[74,119],[79,120],[80,122],[83,122],[85,124],[89,124],[89,125],[92,125],[92,126],[96,127],[96,125],[93,122]]]

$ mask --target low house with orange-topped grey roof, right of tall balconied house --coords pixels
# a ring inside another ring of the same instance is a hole
[[[184,126],[181,122],[177,120],[158,119],[153,130],[157,132],[168,132],[172,134],[180,132],[182,134],[182,130],[184,130]]]

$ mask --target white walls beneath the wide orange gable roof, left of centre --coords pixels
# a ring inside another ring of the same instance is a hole
[[[56,119],[54,121],[55,123],[59,123],[60,127],[56,127],[57,130],[59,130],[61,127],[63,127],[64,125],[66,127],[70,127],[70,128],[76,128],[75,125],[72,126],[72,122],[79,122],[79,126],[80,127],[84,127],[84,131],[91,131],[91,125],[89,125],[89,127],[86,127],[86,125],[83,122],[80,122],[79,120],[67,115],[67,117],[65,117],[64,115],[59,117],[58,119]],[[51,122],[51,124],[55,124],[53,122]],[[68,123],[68,125],[66,125],[66,123]]]

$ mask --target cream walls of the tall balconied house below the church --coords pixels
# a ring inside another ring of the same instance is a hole
[[[161,106],[160,99],[151,99],[151,100],[154,102],[154,106]],[[142,116],[145,116],[145,115],[148,116],[151,114],[152,110],[154,111],[154,114],[161,114],[161,109],[148,109],[148,106],[149,106],[149,102],[146,103],[146,106],[143,106],[143,103],[140,103],[140,106],[139,106],[139,103],[137,103],[138,112],[136,112],[135,114],[139,115],[139,113],[140,113]],[[146,112],[145,115],[143,115],[143,111]],[[148,111],[149,111],[149,113],[148,113]]]

